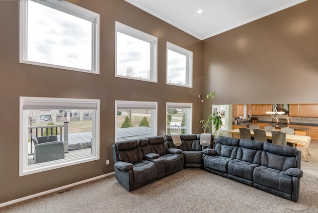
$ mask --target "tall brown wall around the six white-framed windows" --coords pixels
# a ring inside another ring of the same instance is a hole
[[[0,1],[0,203],[113,172],[115,100],[158,102],[159,135],[166,102],[193,103],[201,132],[202,42],[124,0],[70,1],[100,14],[100,75],[19,63],[18,0]],[[158,83],[115,78],[115,21],[158,37]],[[167,41],[193,52],[193,89],[165,84]],[[20,96],[99,99],[100,160],[19,177]]]

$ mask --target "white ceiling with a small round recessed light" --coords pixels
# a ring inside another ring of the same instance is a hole
[[[125,1],[203,40],[306,0]]]

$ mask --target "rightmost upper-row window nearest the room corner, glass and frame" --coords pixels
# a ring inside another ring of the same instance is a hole
[[[167,42],[167,84],[192,88],[192,52]]]

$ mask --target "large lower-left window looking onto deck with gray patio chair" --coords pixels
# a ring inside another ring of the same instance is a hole
[[[98,159],[99,100],[20,97],[20,176]]]

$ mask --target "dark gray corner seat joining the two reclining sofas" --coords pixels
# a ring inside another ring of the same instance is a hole
[[[182,144],[174,145],[171,135],[164,135],[169,148],[181,149],[184,156],[184,168],[197,167],[203,168],[203,157],[205,154],[202,150],[213,148],[214,137],[211,135],[211,144],[209,146],[200,145],[200,134],[180,134]]]

